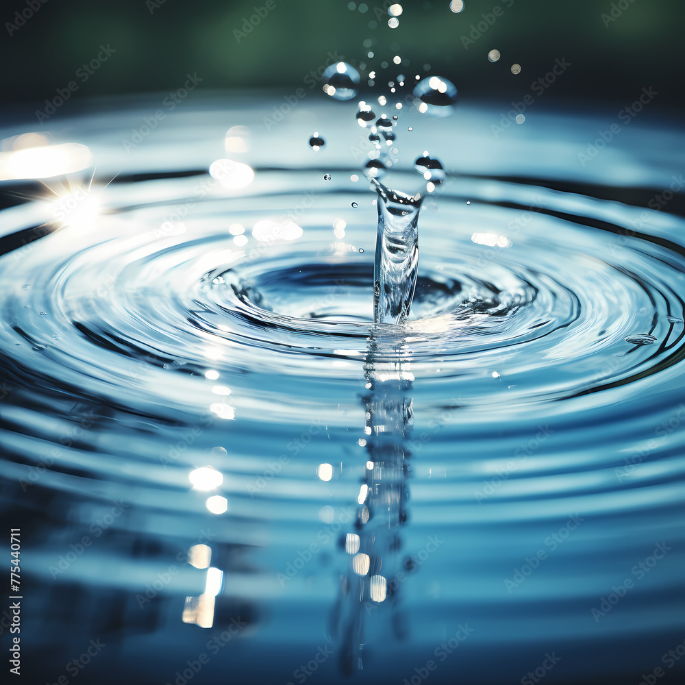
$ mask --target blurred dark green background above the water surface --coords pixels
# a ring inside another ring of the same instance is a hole
[[[403,71],[425,75],[428,63],[432,73],[456,84],[462,99],[503,102],[523,97],[565,58],[572,66],[545,91],[550,103],[628,105],[643,86],[652,86],[659,97],[651,109],[682,105],[683,0],[465,0],[459,14],[449,10],[449,0],[413,1],[402,3],[397,29],[387,26],[387,2],[269,2],[273,10],[241,37],[234,32],[242,32],[265,0],[10,0],[1,10],[3,103],[32,112],[97,58],[100,45],[109,45],[116,52],[86,82],[76,79],[74,99],[176,90],[186,73],[203,79],[203,92],[287,91],[302,86],[329,51],[338,51],[369,68],[399,53],[410,60]],[[462,36],[469,38],[482,14],[498,5],[501,16],[466,49]],[[603,19],[612,8],[615,21]],[[16,12],[29,16],[21,26]],[[373,41],[371,48],[364,40]],[[369,49],[375,60],[365,59]],[[495,64],[487,59],[491,49],[502,55]],[[521,64],[519,75],[510,71],[514,62]]]

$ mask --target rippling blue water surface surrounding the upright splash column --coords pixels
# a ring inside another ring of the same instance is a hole
[[[403,115],[388,184],[416,192],[424,150],[447,179],[408,320],[374,324],[353,116],[302,103],[267,130],[273,97],[241,103],[187,103],[130,151],[146,103],[55,123],[92,151],[97,211],[55,221],[51,192],[3,184],[26,682],[677,682],[685,221],[681,195],[649,202],[682,133],[636,122],[582,166],[610,112],[501,138],[485,104]],[[253,182],[210,177],[225,157]],[[193,489],[202,466],[221,485]],[[223,572],[203,618],[194,545]]]

